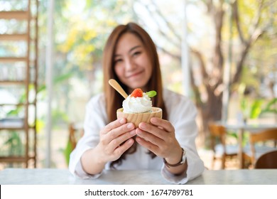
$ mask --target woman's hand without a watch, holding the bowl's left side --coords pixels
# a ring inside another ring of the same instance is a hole
[[[124,118],[116,119],[114,122],[107,124],[100,131],[99,144],[95,148],[98,151],[99,161],[107,163],[117,160],[124,151],[134,144],[134,139],[131,139],[131,137],[135,135],[134,124],[126,123]]]

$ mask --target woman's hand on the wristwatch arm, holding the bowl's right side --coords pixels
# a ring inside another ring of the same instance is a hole
[[[165,158],[168,163],[178,163],[182,149],[175,138],[173,125],[165,119],[151,118],[151,124],[142,122],[136,129],[136,141],[152,151],[156,156]]]

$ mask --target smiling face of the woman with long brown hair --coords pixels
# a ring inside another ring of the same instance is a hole
[[[134,34],[124,33],[119,38],[114,53],[114,70],[119,80],[131,90],[141,88],[146,92],[144,87],[153,67],[143,43]]]

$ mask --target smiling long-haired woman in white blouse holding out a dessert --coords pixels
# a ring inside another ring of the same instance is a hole
[[[70,171],[81,178],[98,178],[104,169],[161,170],[171,183],[187,183],[200,176],[204,164],[197,154],[197,114],[190,99],[163,89],[156,45],[141,26],[114,28],[104,48],[104,93],[87,104],[85,134],[70,156]],[[135,126],[116,119],[123,97],[108,82],[114,79],[125,92],[138,87],[156,90],[153,107],[163,118]]]

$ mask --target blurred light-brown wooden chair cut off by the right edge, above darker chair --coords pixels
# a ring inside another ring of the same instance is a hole
[[[277,129],[266,129],[257,133],[249,134],[249,146],[244,149],[244,156],[256,165],[256,160],[270,151],[276,150]],[[266,145],[267,141],[273,141],[271,146]]]

